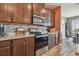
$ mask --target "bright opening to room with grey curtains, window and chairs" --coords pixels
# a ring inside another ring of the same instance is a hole
[[[65,25],[63,25],[65,26],[65,39],[62,41],[62,50],[67,49],[66,51],[69,54],[79,55],[79,16],[66,18],[65,20]],[[62,28],[64,28],[63,26]]]

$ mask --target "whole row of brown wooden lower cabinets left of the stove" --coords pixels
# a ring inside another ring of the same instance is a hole
[[[34,37],[0,41],[0,56],[34,56]]]

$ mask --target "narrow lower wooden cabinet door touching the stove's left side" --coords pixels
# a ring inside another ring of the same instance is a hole
[[[35,54],[35,40],[34,37],[29,37],[28,39],[28,56],[34,56]]]

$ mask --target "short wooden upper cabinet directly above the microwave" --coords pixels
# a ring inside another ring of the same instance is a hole
[[[48,17],[49,11],[45,8],[43,3],[34,3],[33,4],[33,15],[38,15],[42,17]]]

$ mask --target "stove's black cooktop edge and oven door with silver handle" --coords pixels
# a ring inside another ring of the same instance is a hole
[[[40,32],[35,33],[35,46],[36,50],[43,48],[48,45],[48,35],[41,34]]]

